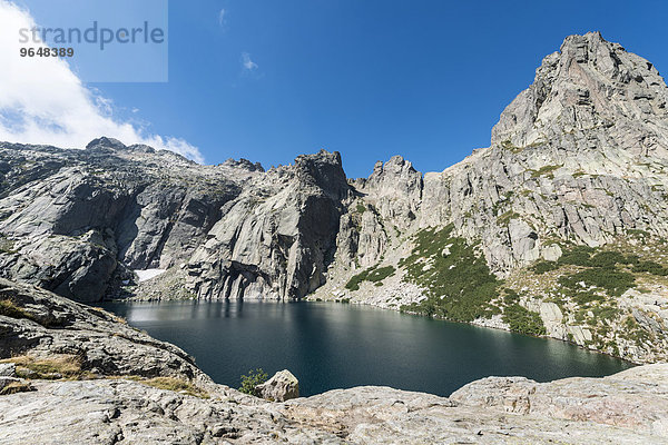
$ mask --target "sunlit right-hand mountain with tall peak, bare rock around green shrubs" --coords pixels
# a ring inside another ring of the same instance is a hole
[[[415,235],[452,227],[521,296],[518,303],[540,316],[548,336],[637,363],[668,359],[662,271],[630,270],[635,288],[621,297],[592,288],[600,303],[591,305],[561,286],[578,267],[531,273],[540,261],[559,266],[554,261],[573,246],[668,266],[667,100],[668,88],[649,61],[598,32],[568,37],[503,111],[490,147],[424,176],[392,158],[377,164],[369,179],[351,182],[360,195],[342,217],[341,260],[313,298],[394,309],[419,301],[421,294],[426,298],[432,286],[415,289],[404,278],[410,265],[401,259],[413,254]],[[370,267],[396,271],[381,285],[351,289],[351,277]],[[502,312],[503,298],[493,305]],[[502,315],[473,323],[510,328]],[[645,327],[628,335],[636,325]]]

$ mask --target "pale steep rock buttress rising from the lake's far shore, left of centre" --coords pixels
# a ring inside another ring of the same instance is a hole
[[[341,156],[322,150],[254,178],[186,266],[198,298],[301,298],[325,281],[342,201]]]

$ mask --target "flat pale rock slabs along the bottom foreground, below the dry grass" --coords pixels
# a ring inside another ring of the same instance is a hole
[[[665,369],[657,373],[654,377],[666,378]],[[202,399],[124,379],[37,382],[35,392],[0,396],[0,443],[668,443],[665,395],[651,394],[656,383],[615,377],[608,382],[584,379],[581,386],[587,392],[573,398],[567,395],[568,388],[546,390],[564,405],[572,403],[566,412],[553,415],[543,413],[551,407],[538,406],[536,412],[523,414],[477,400],[468,404],[387,387],[336,389],[278,404],[232,393],[210,393],[209,399]],[[639,418],[627,409],[631,399],[642,397],[626,399],[630,393],[626,386],[647,395],[651,405],[644,407],[644,413],[651,413],[651,418]],[[601,393],[610,387],[621,390]],[[511,406],[515,396],[503,397]],[[588,405],[579,407],[581,400]],[[618,404],[591,415],[596,404],[607,400]]]

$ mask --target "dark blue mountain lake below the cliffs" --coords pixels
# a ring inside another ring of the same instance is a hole
[[[303,395],[358,385],[449,395],[490,375],[539,382],[602,376],[630,365],[558,340],[333,303],[107,304],[139,329],[196,357],[216,382],[238,386],[262,367],[287,368]]]

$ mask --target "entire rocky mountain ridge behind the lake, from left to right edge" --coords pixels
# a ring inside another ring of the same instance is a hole
[[[543,59],[490,147],[441,172],[3,142],[0,270],[79,300],[351,300],[662,360],[667,101],[650,62],[591,32]]]

